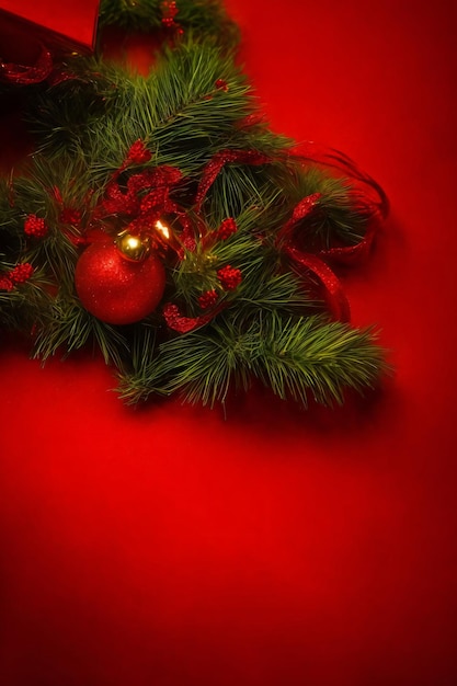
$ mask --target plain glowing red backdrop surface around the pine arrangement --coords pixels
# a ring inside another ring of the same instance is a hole
[[[273,128],[390,197],[344,283],[396,376],[344,410],[252,392],[225,420],[126,409],[99,359],[3,343],[0,683],[450,686],[456,5],[227,7]]]

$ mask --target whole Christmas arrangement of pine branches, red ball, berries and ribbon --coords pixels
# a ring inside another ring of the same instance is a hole
[[[2,328],[33,331],[42,359],[95,342],[126,402],[213,405],[258,379],[332,404],[375,386],[384,351],[351,325],[336,270],[368,256],[379,185],[270,130],[217,0],[104,0],[99,25],[100,45],[114,25],[160,50],[146,77],[53,54],[23,89],[36,152],[0,179]]]

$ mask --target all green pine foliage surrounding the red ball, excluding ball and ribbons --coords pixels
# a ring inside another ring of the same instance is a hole
[[[159,0],[104,0],[101,26],[160,33],[162,16]],[[367,217],[354,203],[353,182],[304,164],[290,152],[293,141],[259,116],[236,64],[236,31],[218,0],[181,0],[175,21],[183,37],[162,43],[146,77],[103,56],[75,57],[62,67],[70,78],[24,93],[37,151],[22,175],[0,179],[0,284],[23,263],[34,273],[26,283],[0,287],[0,323],[34,331],[33,354],[42,359],[88,345],[100,348],[118,369],[126,402],[178,391],[213,405],[231,388],[247,390],[259,379],[304,405],[310,398],[341,403],[344,388],[362,392],[386,371],[382,351],[372,329],[352,329],[319,313],[323,304],[310,295],[304,274],[290,270],[277,235],[294,207],[319,193],[316,211],[298,222],[294,240],[311,253],[356,244]],[[137,324],[105,324],[82,308],[75,289],[87,232],[114,235],[129,220],[114,215],[100,221],[95,208],[137,140],[151,159],[123,167],[119,190],[146,169],[178,168],[183,181],[172,197],[195,228],[194,249],[183,249],[181,259],[164,253],[163,301],[198,318],[206,313],[198,298],[217,294],[214,319],[185,334],[165,325],[162,306]],[[267,161],[226,164],[198,210],[195,194],[205,165],[221,150],[253,150]],[[64,208],[75,210],[78,221],[65,222]],[[30,215],[45,219],[46,236],[25,235]],[[222,240],[217,231],[227,218],[238,230]],[[218,277],[227,265],[242,275],[235,289],[224,289]]]

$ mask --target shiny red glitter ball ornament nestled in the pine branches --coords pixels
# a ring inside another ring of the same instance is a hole
[[[132,324],[159,305],[165,271],[153,252],[134,261],[114,242],[92,243],[78,260],[75,284],[91,315],[108,324]]]

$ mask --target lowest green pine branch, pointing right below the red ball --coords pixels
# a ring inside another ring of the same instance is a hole
[[[260,312],[245,322],[215,323],[150,348],[133,373],[121,376],[121,397],[138,402],[152,392],[181,391],[191,403],[224,402],[229,389],[247,390],[256,377],[279,398],[305,407],[343,401],[344,388],[374,387],[387,365],[370,329],[355,330],[319,317],[284,318]]]

